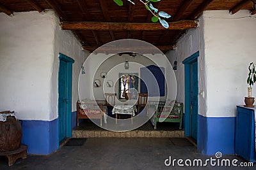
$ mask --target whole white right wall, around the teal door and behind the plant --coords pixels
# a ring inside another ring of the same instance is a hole
[[[199,114],[207,117],[234,117],[236,105],[247,96],[248,66],[256,62],[255,16],[248,10],[235,15],[228,11],[204,11],[199,27],[189,30],[177,43],[177,50],[167,53],[178,83],[177,100],[184,102],[184,65],[182,60],[199,50]],[[256,96],[256,87],[252,95]]]

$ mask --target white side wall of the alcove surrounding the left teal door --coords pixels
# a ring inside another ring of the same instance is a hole
[[[58,71],[59,71],[59,53],[63,53],[75,60],[72,65],[72,111],[76,111],[76,102],[78,100],[78,78],[83,62],[89,53],[82,50],[81,43],[74,36],[72,31],[64,31],[60,28],[58,16],[54,14],[54,51],[52,53],[53,65],[51,75],[51,101],[50,102],[50,120],[58,117]]]

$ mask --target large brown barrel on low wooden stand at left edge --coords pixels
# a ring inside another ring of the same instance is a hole
[[[6,117],[0,122],[0,152],[8,152],[20,148],[22,129],[19,120],[15,117]]]

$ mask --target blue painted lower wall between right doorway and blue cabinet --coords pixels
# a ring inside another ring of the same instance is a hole
[[[205,155],[234,154],[235,128],[236,117],[198,115],[198,150]]]

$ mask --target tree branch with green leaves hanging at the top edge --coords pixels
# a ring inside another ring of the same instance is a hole
[[[118,4],[119,6],[123,6],[123,1],[122,0],[113,0],[116,4]],[[129,3],[135,5],[135,3],[131,0],[127,0]],[[160,24],[168,29],[169,27],[169,24],[168,22],[166,22],[166,20],[164,20],[164,18],[170,18],[171,15],[169,15],[168,13],[164,12],[164,11],[159,11],[157,8],[155,8],[153,6],[152,3],[157,3],[161,0],[146,0],[146,1],[143,1],[143,0],[140,0],[141,3],[143,3],[145,5],[145,8],[150,11],[153,15],[153,17],[151,18],[152,22],[160,22]]]

